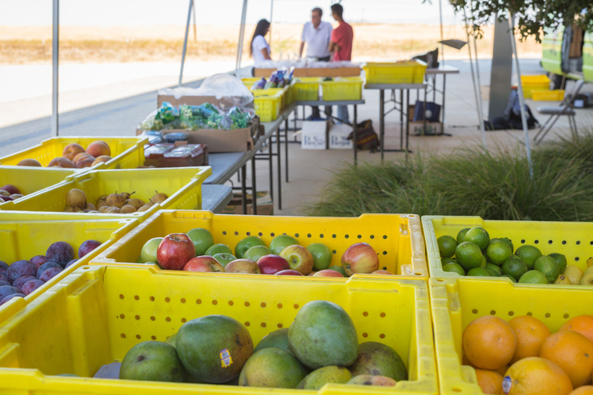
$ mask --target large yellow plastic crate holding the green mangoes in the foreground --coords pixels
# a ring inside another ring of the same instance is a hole
[[[318,394],[437,394],[424,281],[222,281],[157,273],[152,267],[117,266],[79,267],[18,317],[4,323],[0,333],[0,391],[28,395],[296,394],[299,391],[283,388],[88,377],[101,365],[122,361],[137,343],[165,340],[184,322],[209,314],[241,321],[257,344],[267,333],[288,327],[298,309],[314,300],[341,305],[352,317],[359,342],[393,347],[409,372],[409,380],[399,381],[396,387],[329,384]],[[51,376],[60,373],[84,378]]]

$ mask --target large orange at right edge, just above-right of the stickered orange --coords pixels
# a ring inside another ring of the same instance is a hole
[[[541,344],[540,356],[562,368],[573,387],[591,383],[593,342],[581,333],[563,330],[548,336]]]

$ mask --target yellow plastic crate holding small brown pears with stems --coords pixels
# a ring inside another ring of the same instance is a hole
[[[212,168],[174,167],[146,168],[140,170],[93,170],[69,176],[68,182],[50,187],[42,193],[24,196],[18,202],[7,202],[0,210],[53,211],[62,212],[66,207],[66,193],[77,188],[87,194],[88,202],[95,203],[101,195],[116,192],[132,193],[135,198],[147,201],[157,192],[169,196],[164,202],[155,204],[145,212],[131,214],[93,214],[99,218],[141,218],[145,219],[159,209],[189,209],[202,207],[202,183],[212,174]],[[87,213],[66,213],[84,219]]]

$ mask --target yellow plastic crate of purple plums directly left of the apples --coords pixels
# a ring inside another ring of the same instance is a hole
[[[65,278],[76,267],[87,265],[98,253],[111,246],[124,234],[132,230],[136,219],[87,219],[80,221],[69,215],[38,215],[0,212],[0,260],[10,265],[21,259],[45,255],[47,248],[56,241],[65,241],[74,248],[78,258],[78,247],[85,240],[103,242],[92,253],[82,257],[75,265],[68,267],[50,279],[43,286],[24,298],[12,298],[0,306],[0,323],[47,291],[53,284]]]

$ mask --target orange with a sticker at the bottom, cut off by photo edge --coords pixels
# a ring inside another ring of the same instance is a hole
[[[572,383],[554,362],[530,356],[515,362],[506,371],[502,389],[509,395],[568,395]]]

